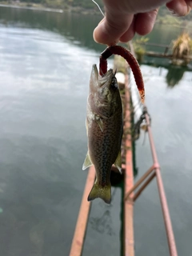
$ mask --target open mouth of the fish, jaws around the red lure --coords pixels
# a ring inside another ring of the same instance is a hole
[[[92,72],[91,76],[95,82],[97,82],[99,87],[106,86],[110,89],[110,84],[115,78],[114,76],[114,71],[113,70],[108,70],[106,74],[103,74],[102,76],[98,74],[98,68],[97,65],[94,64],[92,67]]]

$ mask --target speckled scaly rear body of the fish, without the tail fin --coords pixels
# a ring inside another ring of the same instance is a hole
[[[122,122],[121,112],[120,115],[116,114],[112,118],[103,120],[103,130],[100,129],[97,122],[90,122],[88,130],[90,158],[98,173],[98,183],[102,182],[101,185],[104,185],[109,183],[110,168],[115,162],[121,146],[121,139],[116,135],[121,132],[119,129]]]

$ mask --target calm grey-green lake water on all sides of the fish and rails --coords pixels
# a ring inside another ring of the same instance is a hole
[[[2,255],[69,254],[86,182],[90,70],[104,50],[92,39],[98,20],[0,8]],[[151,42],[169,44],[178,32],[156,26]],[[142,73],[178,255],[191,256],[192,73],[146,65]],[[150,166],[150,147],[142,142],[143,134],[136,143],[136,179]],[[121,187],[112,193],[111,206],[92,204],[83,256],[121,252]],[[168,255],[155,181],[135,203],[134,228],[137,256]]]

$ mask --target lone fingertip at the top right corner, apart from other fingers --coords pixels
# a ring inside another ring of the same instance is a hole
[[[172,14],[177,16],[186,16],[192,9],[191,0],[172,0],[166,4]]]

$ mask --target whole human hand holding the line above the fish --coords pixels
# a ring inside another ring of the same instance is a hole
[[[145,35],[153,30],[158,7],[166,3],[172,14],[185,16],[191,0],[103,0],[106,16],[94,29],[94,41],[112,46],[128,42],[135,33]]]

